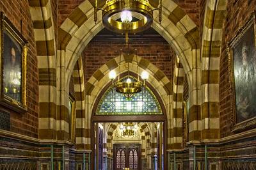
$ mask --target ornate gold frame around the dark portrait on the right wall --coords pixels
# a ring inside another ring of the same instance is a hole
[[[228,55],[228,84],[229,84],[229,92],[231,94],[231,111],[232,111],[232,117],[231,117],[231,128],[232,132],[242,132],[245,130],[249,130],[250,128],[256,127],[256,116],[253,118],[250,118],[248,120],[242,121],[240,123],[237,123],[236,118],[236,89],[235,89],[235,77],[234,77],[234,56],[233,56],[233,49],[236,46],[236,44],[241,40],[243,35],[246,33],[246,31],[251,27],[254,26],[254,42],[256,45],[256,13],[255,11],[252,12],[252,15],[250,16],[250,19],[248,19],[245,24],[238,29],[236,36],[232,38],[232,40],[228,43],[227,47],[227,55]]]

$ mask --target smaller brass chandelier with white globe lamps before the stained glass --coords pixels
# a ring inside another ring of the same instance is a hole
[[[140,93],[142,91],[143,86],[145,86],[145,83],[148,79],[148,72],[145,70],[141,73],[141,79],[143,80],[142,82],[140,81],[140,75],[139,75],[139,66],[138,66],[138,55],[137,55],[137,50],[136,51],[136,66],[137,66],[137,79],[132,79],[130,75],[130,63],[128,62],[128,75],[127,79],[122,79],[120,80],[120,66],[121,66],[121,58],[123,56],[122,49],[120,50],[120,61],[118,65],[118,80],[115,82],[116,79],[116,72],[115,70],[111,70],[109,72],[109,79],[112,81],[112,85],[115,88],[115,91],[118,93],[123,93],[125,97],[131,98],[134,93]],[[127,54],[129,55],[129,54]]]

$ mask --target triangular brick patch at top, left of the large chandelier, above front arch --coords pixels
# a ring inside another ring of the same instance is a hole
[[[52,0],[56,1],[56,0]],[[58,27],[84,0],[58,0]],[[86,0],[88,1],[88,0]]]

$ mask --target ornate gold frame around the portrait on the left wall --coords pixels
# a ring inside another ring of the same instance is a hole
[[[0,83],[0,104],[4,105],[5,107],[8,107],[9,109],[12,109],[16,112],[26,112],[27,111],[27,105],[26,105],[26,71],[27,71],[27,53],[28,53],[28,42],[22,36],[22,34],[13,26],[12,22],[4,15],[3,12],[1,12],[1,21],[0,21],[0,28],[1,28],[1,36],[0,36],[0,42],[1,42],[1,48],[0,48],[0,55],[1,55],[1,83]],[[14,100],[11,97],[8,97],[4,95],[3,93],[3,48],[4,48],[4,42],[3,42],[3,32],[6,31],[10,35],[13,36],[13,38],[20,44],[20,47],[22,47],[22,82],[21,82],[21,102],[18,102]]]

